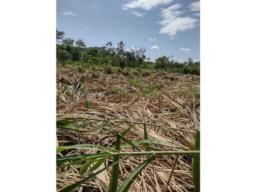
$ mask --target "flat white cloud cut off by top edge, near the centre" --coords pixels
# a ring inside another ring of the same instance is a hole
[[[141,8],[144,10],[150,10],[158,5],[165,5],[171,3],[173,0],[131,0],[129,3],[123,5],[122,9],[134,9]]]

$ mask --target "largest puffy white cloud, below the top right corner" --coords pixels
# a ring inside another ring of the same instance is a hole
[[[177,9],[181,7],[182,5],[177,3],[166,9],[162,9],[160,16],[163,20],[158,22],[162,26],[159,33],[165,33],[173,39],[177,32],[188,31],[197,26],[197,19],[188,16],[179,17],[183,14],[183,11]]]

